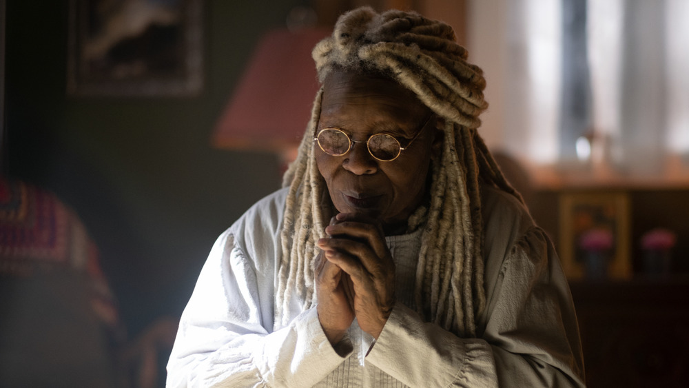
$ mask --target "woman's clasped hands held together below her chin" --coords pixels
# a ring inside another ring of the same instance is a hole
[[[395,304],[395,263],[380,223],[340,213],[318,240],[315,277],[318,319],[331,344],[342,340],[356,317],[378,339]]]

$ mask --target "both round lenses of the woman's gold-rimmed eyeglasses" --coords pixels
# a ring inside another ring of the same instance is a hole
[[[340,156],[349,151],[349,136],[336,128],[328,128],[318,134],[318,145],[328,154]],[[381,161],[391,161],[400,154],[400,143],[389,134],[375,134],[367,145],[371,155]]]

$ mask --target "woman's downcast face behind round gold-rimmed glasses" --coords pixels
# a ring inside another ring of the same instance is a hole
[[[417,139],[393,161],[378,161],[365,141],[391,134],[404,147],[422,130],[431,111],[398,83],[352,72],[333,72],[323,85],[316,134],[336,127],[355,143],[347,154],[331,156],[318,144],[316,163],[338,212],[373,216],[386,234],[404,232],[407,218],[420,205],[433,152],[441,137],[431,119]]]

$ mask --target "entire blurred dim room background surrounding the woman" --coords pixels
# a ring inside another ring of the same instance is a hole
[[[689,384],[685,0],[0,0],[0,382],[164,386],[209,249],[294,158],[311,48],[362,5],[446,21],[484,70],[588,386]]]

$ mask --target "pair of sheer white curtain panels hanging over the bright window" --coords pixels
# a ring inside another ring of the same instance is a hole
[[[568,0],[502,1],[508,8],[503,147],[534,163],[562,163]],[[668,156],[689,159],[688,21],[689,0],[586,2],[588,39],[580,54],[588,56],[590,131],[602,145],[593,157],[620,174],[655,176]]]

